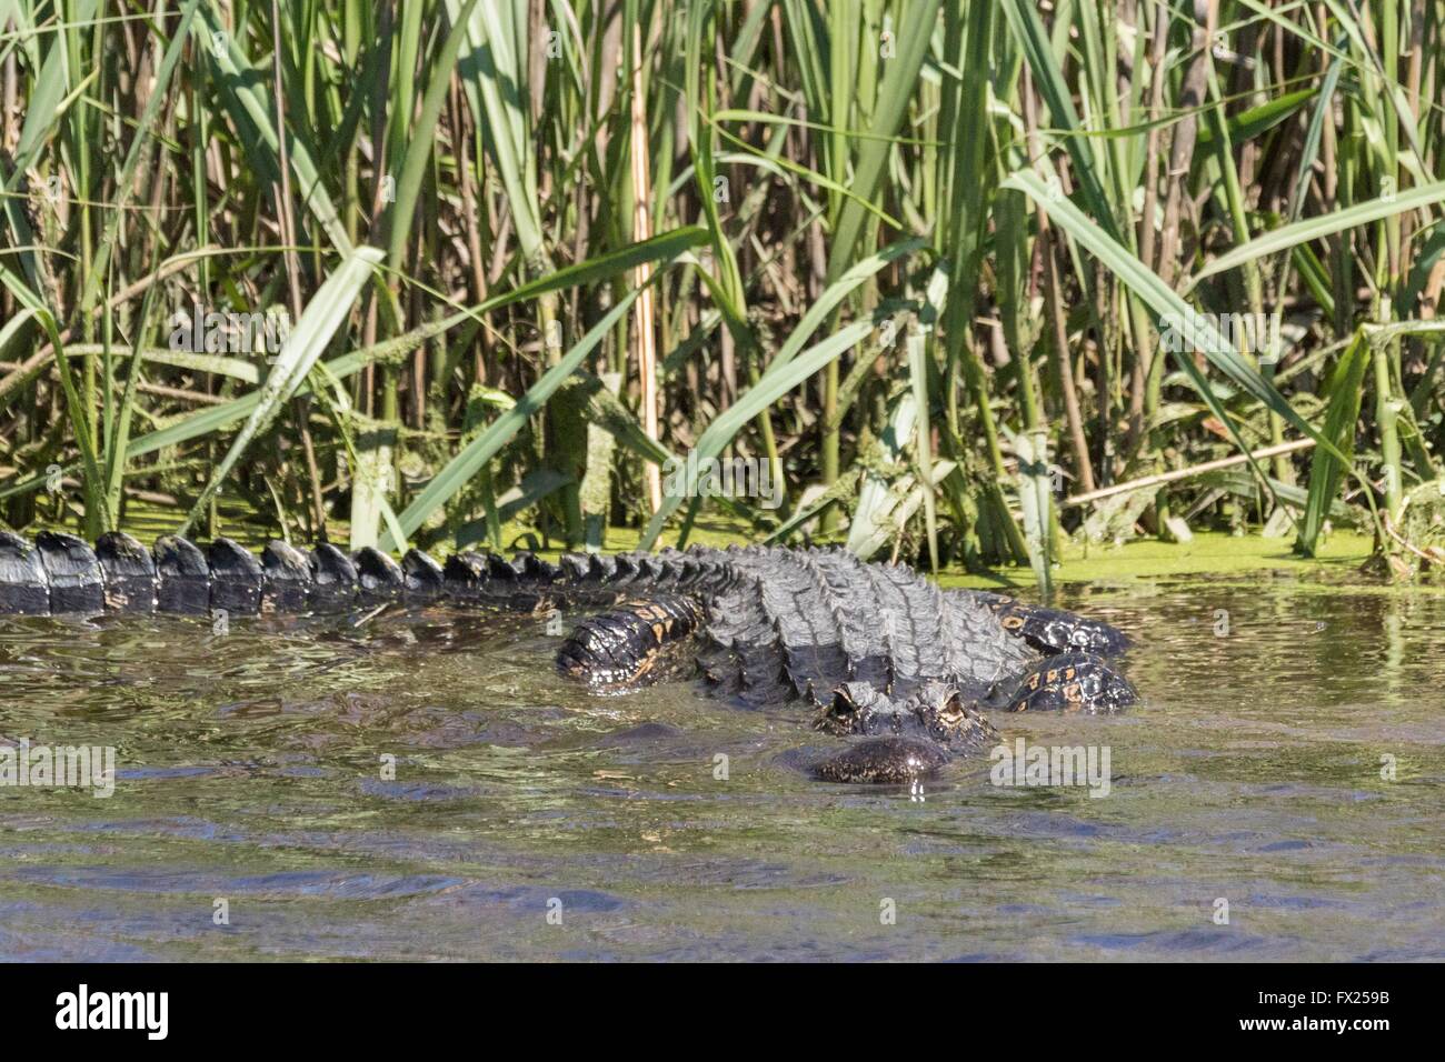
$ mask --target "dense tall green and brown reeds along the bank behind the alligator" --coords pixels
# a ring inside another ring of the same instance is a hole
[[[504,548],[707,513],[1043,579],[1069,535],[1353,524],[1412,574],[1442,20],[14,0],[0,516]],[[734,461],[766,491],[685,471]]]

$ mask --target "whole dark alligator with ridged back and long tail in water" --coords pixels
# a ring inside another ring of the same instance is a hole
[[[730,546],[657,553],[347,553],[175,535],[146,549],[62,532],[0,532],[0,614],[292,614],[397,603],[546,614],[582,611],[556,665],[597,694],[689,670],[747,707],[801,702],[841,750],[819,779],[910,783],[998,743],[985,712],[1113,712],[1137,699],[1110,663],[1114,627],[970,590],[841,549]],[[688,650],[692,650],[691,653]]]

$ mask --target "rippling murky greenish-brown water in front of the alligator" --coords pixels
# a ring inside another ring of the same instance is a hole
[[[996,722],[1107,746],[1103,799],[812,782],[795,711],[588,696],[516,618],[0,621],[0,737],[117,756],[108,799],[0,787],[0,955],[1445,958],[1445,597],[1064,603],[1137,636],[1146,704]]]

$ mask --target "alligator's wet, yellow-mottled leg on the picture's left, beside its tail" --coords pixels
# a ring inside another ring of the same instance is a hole
[[[556,653],[558,668],[597,691],[623,692],[655,679],[668,646],[691,636],[702,610],[681,594],[624,601],[582,620]]]

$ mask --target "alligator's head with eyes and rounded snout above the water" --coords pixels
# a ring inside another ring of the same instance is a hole
[[[845,682],[816,727],[863,738],[814,767],[828,782],[906,783],[998,741],[993,724],[948,682],[925,682],[897,699],[867,682]]]

